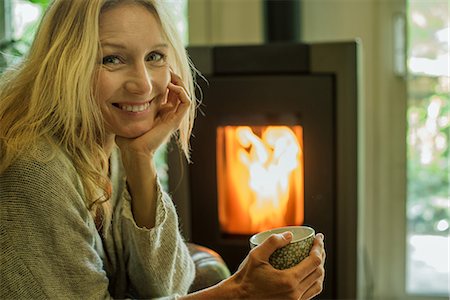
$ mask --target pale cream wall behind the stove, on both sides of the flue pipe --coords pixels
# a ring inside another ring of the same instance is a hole
[[[406,0],[302,0],[303,41],[362,44],[362,299],[405,298],[406,82],[394,74],[392,34],[394,16],[405,8]],[[261,16],[261,0],[190,0],[190,44],[263,43]]]

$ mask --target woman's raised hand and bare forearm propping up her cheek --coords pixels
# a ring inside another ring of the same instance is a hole
[[[161,104],[152,128],[137,138],[116,136],[132,196],[131,208],[136,224],[155,226],[156,168],[153,154],[178,129],[191,105],[181,78],[170,72],[167,101]]]

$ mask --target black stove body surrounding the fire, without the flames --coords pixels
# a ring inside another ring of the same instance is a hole
[[[220,231],[216,128],[301,125],[304,224],[326,237],[326,279],[318,299],[356,298],[358,49],[356,42],[188,49],[208,81],[198,80],[204,115],[199,113],[191,139],[193,163],[183,164],[178,151],[169,153],[170,190],[188,240],[216,250],[232,271],[249,251],[249,236]],[[188,176],[180,181],[183,172]]]

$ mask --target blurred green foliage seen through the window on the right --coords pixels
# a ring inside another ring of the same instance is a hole
[[[450,233],[448,3],[410,1],[408,225],[411,233]],[[446,37],[447,36],[447,37]]]

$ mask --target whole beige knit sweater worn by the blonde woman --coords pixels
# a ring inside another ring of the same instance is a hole
[[[69,158],[49,146],[0,174],[0,299],[176,298],[194,265],[172,201],[159,189],[156,226],[139,228],[119,153],[111,157],[113,219],[102,238]],[[38,159],[36,159],[36,157]]]

